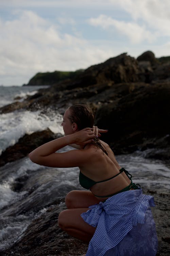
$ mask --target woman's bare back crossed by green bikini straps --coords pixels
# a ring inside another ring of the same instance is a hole
[[[90,187],[90,190],[93,194],[102,196],[101,201],[104,201],[108,198],[107,195],[117,193],[129,186],[131,180],[124,172],[120,173],[121,166],[116,161],[114,153],[108,144],[102,141],[101,143],[107,150],[107,154],[101,148],[93,144],[88,144],[84,148],[84,156],[88,158],[88,161],[84,166],[79,166],[79,168],[81,177],[83,174],[97,182]]]

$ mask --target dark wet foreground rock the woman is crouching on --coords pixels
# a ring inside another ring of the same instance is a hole
[[[152,208],[152,214],[158,236],[157,256],[168,256],[170,250],[169,194],[166,191],[158,193],[154,188],[152,191],[144,188],[143,193],[151,194],[155,200],[156,207]],[[87,243],[72,238],[57,225],[58,214],[65,208],[64,202],[49,207],[47,212],[33,220],[22,237],[12,247],[1,252],[1,255],[78,256],[86,253]]]

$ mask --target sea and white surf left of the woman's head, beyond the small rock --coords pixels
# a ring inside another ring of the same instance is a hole
[[[35,88],[34,88],[35,87]],[[0,86],[0,107],[16,101],[20,101],[28,95],[34,95],[42,86]],[[7,147],[13,146],[24,134],[43,131],[47,127],[54,133],[63,132],[62,116],[49,109],[49,115],[41,113],[41,110],[14,111],[0,115],[0,154]]]

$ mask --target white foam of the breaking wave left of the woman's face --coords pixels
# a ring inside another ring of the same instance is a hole
[[[50,116],[38,111],[14,111],[1,114],[0,122],[0,154],[7,147],[13,146],[24,134],[31,134],[49,128],[54,133],[62,133],[62,116],[52,113]]]

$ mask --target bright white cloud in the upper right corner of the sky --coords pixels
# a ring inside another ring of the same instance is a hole
[[[115,0],[110,2],[115,4]],[[97,18],[90,18],[89,23],[105,30],[114,27],[133,43],[145,40],[151,43],[159,37],[170,36],[169,0],[119,0],[117,4],[130,14],[132,21],[120,21],[101,14]]]

